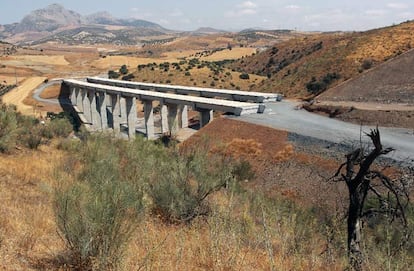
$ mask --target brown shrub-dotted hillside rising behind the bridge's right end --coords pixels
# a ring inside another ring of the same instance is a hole
[[[274,45],[232,68],[267,76],[254,90],[312,98],[364,70],[407,52],[414,45],[414,22],[366,32],[321,33]]]

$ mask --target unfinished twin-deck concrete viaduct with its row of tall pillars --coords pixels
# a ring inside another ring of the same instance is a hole
[[[193,88],[87,78],[87,82],[66,79],[70,101],[80,120],[92,130],[112,129],[121,132],[128,127],[128,137],[134,138],[137,122],[137,100],[144,105],[145,132],[154,139],[153,102],[160,103],[161,133],[175,133],[188,127],[188,107],[200,114],[200,127],[213,119],[213,110],[236,116],[263,113],[262,102],[280,100],[272,93],[243,92],[222,89]],[[212,97],[218,97],[212,98]],[[245,102],[252,101],[252,102]]]

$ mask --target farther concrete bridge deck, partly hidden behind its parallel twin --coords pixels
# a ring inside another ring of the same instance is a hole
[[[113,80],[99,77],[88,77],[90,83],[127,87],[141,90],[153,90],[158,92],[173,92],[176,94],[192,94],[201,97],[214,98],[219,97],[233,101],[252,101],[255,103],[280,101],[282,96],[276,93],[248,92],[229,89],[213,89],[201,87],[187,87],[175,85],[152,84],[142,82],[129,82],[123,80]]]

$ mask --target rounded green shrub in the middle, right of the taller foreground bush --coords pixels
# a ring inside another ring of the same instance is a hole
[[[156,182],[150,184],[153,211],[169,223],[189,222],[210,211],[206,198],[233,180],[223,159],[201,152],[188,157],[172,154],[156,168]]]

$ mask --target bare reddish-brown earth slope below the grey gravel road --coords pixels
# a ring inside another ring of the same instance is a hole
[[[340,161],[296,149],[285,131],[218,118],[185,141],[182,148],[206,144],[212,152],[249,161],[256,178],[247,187],[287,196],[304,206],[326,210],[344,206],[344,185],[327,182]]]

